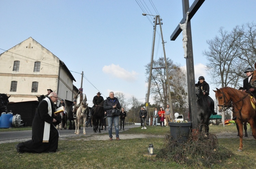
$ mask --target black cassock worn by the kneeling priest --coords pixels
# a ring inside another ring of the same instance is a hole
[[[42,100],[37,108],[37,112],[35,113],[33,122],[32,122],[32,139],[28,140],[27,142],[19,143],[18,147],[20,151],[26,152],[34,152],[34,153],[41,153],[41,152],[56,152],[58,149],[58,139],[59,139],[59,132],[54,127],[56,123],[53,124],[53,117],[54,117],[54,104],[51,101],[52,106],[52,116],[48,114],[48,103],[46,100]],[[50,127],[50,135],[49,135],[49,142],[43,143],[43,135],[44,135],[44,122],[51,124]],[[59,122],[58,122],[59,123]]]

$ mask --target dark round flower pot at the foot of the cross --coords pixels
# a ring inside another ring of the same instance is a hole
[[[190,121],[188,121],[188,123],[168,122],[168,125],[170,126],[170,132],[173,139],[177,140],[179,143],[187,140],[191,126]]]

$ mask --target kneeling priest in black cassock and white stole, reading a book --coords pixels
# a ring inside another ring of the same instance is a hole
[[[52,92],[39,103],[32,122],[32,139],[16,144],[17,152],[56,152],[59,132],[55,126],[60,123],[54,118],[57,116],[54,114],[54,103],[57,100],[57,93]]]

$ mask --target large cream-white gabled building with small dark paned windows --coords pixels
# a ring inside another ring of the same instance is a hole
[[[10,102],[37,100],[47,89],[72,101],[73,81],[65,63],[31,37],[0,54],[0,93],[11,95]]]

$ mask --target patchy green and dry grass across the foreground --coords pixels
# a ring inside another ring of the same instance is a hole
[[[255,139],[252,139],[251,134],[249,134],[249,138],[244,139],[242,152],[237,151],[238,137],[228,138],[228,135],[226,138],[216,139],[214,137],[214,134],[222,132],[236,132],[236,126],[225,126],[225,128],[210,126],[210,133],[213,132],[210,135],[212,138],[201,140],[199,137],[200,139],[196,142],[190,140],[187,145],[189,150],[180,149],[179,155],[175,157],[163,152],[168,151],[165,145],[165,136],[170,132],[169,127],[148,126],[147,130],[140,128],[136,127],[120,133],[120,141],[87,140],[88,136],[86,135],[81,136],[80,140],[77,140],[76,137],[59,140],[58,151],[51,154],[18,154],[15,150],[16,143],[0,144],[0,168],[256,168],[256,142]],[[151,135],[151,137],[122,139],[122,134],[145,134]],[[159,136],[162,137],[159,138]],[[102,137],[107,136],[102,134]],[[147,153],[149,144],[154,145],[154,153],[157,154],[157,157],[143,156]],[[170,150],[176,150],[177,146],[179,145],[170,146]],[[210,148],[206,149],[206,147]],[[211,156],[207,155],[208,151]],[[219,154],[214,154],[216,152]],[[200,153],[204,155],[201,156]],[[198,164],[186,165],[181,162],[180,159],[185,157],[185,154],[187,154],[185,162]],[[226,158],[229,155],[231,156]]]

